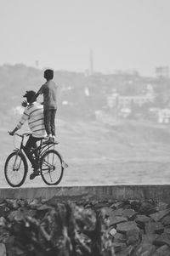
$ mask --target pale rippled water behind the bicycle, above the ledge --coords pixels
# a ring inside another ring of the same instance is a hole
[[[133,127],[132,127],[133,125]],[[75,185],[165,185],[170,184],[170,144],[166,127],[143,124],[108,127],[98,122],[60,122],[56,150],[69,167],[59,186]],[[4,162],[20,141],[0,131],[0,187],[9,187]],[[29,179],[22,187],[47,186],[41,177]]]

